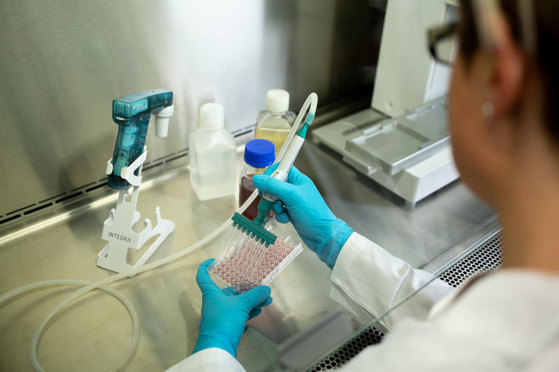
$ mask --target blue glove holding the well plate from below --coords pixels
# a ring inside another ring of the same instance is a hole
[[[202,318],[198,341],[192,353],[208,348],[220,348],[233,357],[237,354],[245,323],[272,303],[270,287],[261,285],[241,295],[231,295],[219,288],[208,274],[213,258],[202,262],[196,274],[196,283],[202,291]]]

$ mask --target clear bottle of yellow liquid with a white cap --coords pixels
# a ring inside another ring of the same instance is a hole
[[[266,93],[266,110],[259,113],[256,119],[254,137],[272,142],[275,155],[282,148],[295,114],[289,111],[289,92],[284,89],[271,89]]]

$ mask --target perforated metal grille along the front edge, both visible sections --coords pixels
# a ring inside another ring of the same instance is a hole
[[[439,278],[456,288],[475,274],[496,270],[501,267],[501,265],[502,235],[498,232],[493,235],[493,237],[486,240],[484,244],[475,248],[474,251],[465,258],[443,271]],[[370,327],[361,334],[358,334],[358,336],[351,341],[348,341],[341,348],[335,350],[335,352],[332,352],[328,357],[322,359],[321,362],[317,363],[309,371],[319,372],[328,369],[336,369],[352,357],[355,357],[358,352],[367,346],[375,345],[382,340],[384,340],[384,334],[375,327]]]

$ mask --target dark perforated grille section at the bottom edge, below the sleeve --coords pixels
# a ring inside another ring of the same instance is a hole
[[[353,340],[349,341],[335,352],[328,355],[316,366],[310,369],[310,372],[326,371],[328,369],[335,369],[341,366],[349,359],[355,357],[358,352],[363,350],[369,345],[375,345],[384,339],[384,334],[375,327],[366,329],[363,333],[359,334]]]

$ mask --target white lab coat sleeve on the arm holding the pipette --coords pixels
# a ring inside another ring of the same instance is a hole
[[[351,234],[332,271],[331,298],[361,320],[373,320],[430,282],[426,288],[386,315],[390,329],[401,318],[428,317],[433,305],[453,289],[447,283],[396,258],[369,239]]]

